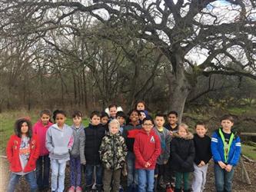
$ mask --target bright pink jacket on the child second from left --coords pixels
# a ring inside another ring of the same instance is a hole
[[[38,141],[39,141],[39,146],[40,146],[40,156],[44,156],[46,154],[49,154],[49,151],[45,147],[45,137],[46,137],[46,132],[48,130],[48,127],[51,127],[52,123],[48,122],[47,125],[43,125],[42,121],[39,119],[38,122],[34,124],[33,127],[33,134],[37,134]]]

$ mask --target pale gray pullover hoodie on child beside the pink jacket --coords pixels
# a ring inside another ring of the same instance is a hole
[[[62,129],[58,127],[58,124],[52,124],[48,128],[45,147],[50,152],[51,159],[68,161],[73,142],[73,130],[67,124],[64,124]]]

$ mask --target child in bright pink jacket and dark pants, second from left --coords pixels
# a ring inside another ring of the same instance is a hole
[[[47,189],[49,187],[50,174],[50,158],[49,151],[45,147],[45,137],[48,127],[52,125],[50,122],[51,112],[43,110],[40,112],[40,119],[33,127],[33,133],[37,134],[38,142],[40,144],[40,152],[38,161],[36,161],[36,176],[38,190]]]

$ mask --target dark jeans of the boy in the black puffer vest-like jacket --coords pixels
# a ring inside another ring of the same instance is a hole
[[[85,167],[85,180],[86,180],[86,186],[91,187],[93,185],[93,174],[94,174],[94,169],[96,167],[96,185],[97,186],[102,186],[102,165],[97,164],[97,165],[91,165],[91,164],[86,164]]]

